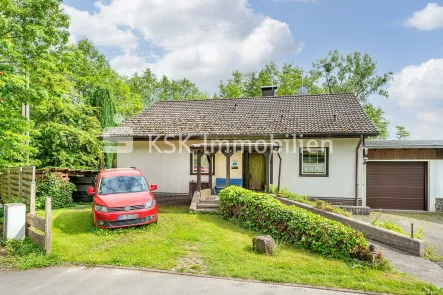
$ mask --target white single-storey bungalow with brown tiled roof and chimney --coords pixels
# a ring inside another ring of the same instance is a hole
[[[202,151],[203,188],[230,182],[268,190],[274,184],[365,205],[364,140],[378,130],[358,99],[274,96],[274,89],[265,87],[262,97],[160,101],[103,137],[119,142],[118,167],[141,169],[166,202],[189,204]]]

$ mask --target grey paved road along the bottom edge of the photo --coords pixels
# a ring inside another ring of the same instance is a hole
[[[1,294],[8,295],[358,294],[240,280],[99,267],[53,267],[24,272],[0,271],[0,289]]]

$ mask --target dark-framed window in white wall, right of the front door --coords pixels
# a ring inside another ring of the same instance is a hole
[[[329,174],[329,148],[300,149],[300,176],[323,176]]]

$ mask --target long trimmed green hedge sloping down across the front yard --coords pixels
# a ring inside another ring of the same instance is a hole
[[[363,234],[340,222],[236,186],[223,189],[219,197],[221,215],[242,227],[325,256],[366,260]]]

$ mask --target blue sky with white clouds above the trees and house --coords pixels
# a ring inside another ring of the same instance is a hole
[[[161,4],[159,4],[161,2]],[[230,71],[270,60],[309,70],[330,50],[368,53],[392,71],[391,97],[372,96],[416,139],[443,139],[443,1],[64,1],[72,42],[88,37],[125,75],[146,66],[216,90]]]

